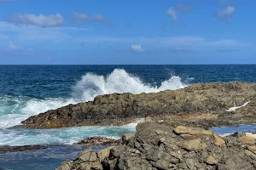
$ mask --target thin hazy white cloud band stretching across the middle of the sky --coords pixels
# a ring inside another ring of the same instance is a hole
[[[83,31],[83,36],[77,37],[74,32]],[[88,29],[76,27],[47,27],[39,26],[17,26],[0,21],[0,47],[5,48],[6,43],[15,40],[25,46],[34,46],[35,42],[47,42],[49,46],[54,43],[75,44],[81,43],[101,45],[119,44],[129,47],[131,51],[137,53],[148,52],[148,48],[170,48],[179,47],[201,51],[201,48],[212,50],[212,48],[246,48],[252,46],[252,42],[242,42],[237,39],[209,39],[207,37],[183,36],[183,37],[91,37],[86,34]],[[131,44],[132,47],[131,47]],[[143,46],[141,45],[143,44]]]

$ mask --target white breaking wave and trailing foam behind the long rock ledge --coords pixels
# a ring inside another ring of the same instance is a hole
[[[115,69],[107,77],[86,73],[73,87],[72,98],[28,99],[25,97],[3,96],[0,98],[0,128],[13,127],[29,116],[57,109],[68,104],[93,100],[97,95],[113,93],[153,93],[166,89],[184,88],[187,85],[180,77],[172,76],[160,86],[144,83],[139,77],[124,69]]]

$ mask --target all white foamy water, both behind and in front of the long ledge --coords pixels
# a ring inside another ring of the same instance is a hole
[[[0,145],[25,144],[73,144],[91,136],[119,138],[127,132],[134,132],[135,125],[124,127],[72,127],[49,130],[9,128],[41,112],[57,109],[68,104],[93,100],[97,95],[113,93],[155,93],[166,89],[178,89],[188,86],[180,77],[171,76],[160,86],[147,84],[140,77],[124,69],[114,69],[108,76],[85,73],[73,86],[71,98],[35,99],[26,96],[13,97],[3,95],[0,98]]]

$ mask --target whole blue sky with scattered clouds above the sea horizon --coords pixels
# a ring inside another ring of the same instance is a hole
[[[256,64],[255,0],[0,0],[0,65]]]

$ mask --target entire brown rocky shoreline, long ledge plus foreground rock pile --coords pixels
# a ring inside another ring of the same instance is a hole
[[[137,133],[120,141],[85,139],[80,144],[116,144],[84,150],[56,170],[256,169],[256,137],[219,137],[209,127],[256,122],[256,83],[198,83],[152,94],[107,94],[93,101],[46,111],[22,122],[27,128],[125,125]]]

